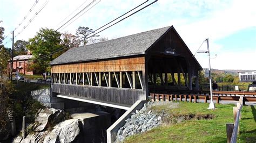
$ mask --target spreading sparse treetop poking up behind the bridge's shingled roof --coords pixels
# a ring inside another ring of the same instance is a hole
[[[91,28],[89,28],[89,27],[82,27],[82,26],[79,26],[77,31],[76,31],[76,35],[79,38],[81,38],[80,42],[83,42],[84,45],[87,44],[88,41],[86,39],[87,39],[88,35],[91,34],[91,33],[94,33],[94,31]],[[93,36],[93,37],[96,37],[96,35]]]

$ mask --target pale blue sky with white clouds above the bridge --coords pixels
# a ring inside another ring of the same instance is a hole
[[[69,22],[58,31],[75,34],[79,26],[87,26],[96,30],[145,2],[142,0],[37,1],[29,12],[36,0],[0,0],[0,21],[3,21],[0,26],[5,28],[5,36],[8,36],[3,44],[9,41],[5,47],[11,47],[10,32],[16,27],[15,41],[29,40],[29,38],[35,37],[36,32],[41,27],[57,30],[76,13],[91,4],[74,18],[74,21],[71,20],[72,23]],[[136,10],[151,2],[153,0]],[[100,32],[99,35],[114,39],[173,25],[190,51],[196,54],[195,57],[203,68],[208,68],[207,54],[196,52],[202,42],[208,38],[211,68],[256,70],[255,5],[256,1],[254,0],[159,0],[122,22]],[[43,9],[41,10],[41,8]],[[27,17],[23,20],[25,16]],[[30,19],[32,19],[31,22],[29,22]],[[19,24],[21,25],[19,26]],[[18,32],[21,33],[18,34]],[[206,48],[207,45],[204,42],[199,50],[205,51]]]

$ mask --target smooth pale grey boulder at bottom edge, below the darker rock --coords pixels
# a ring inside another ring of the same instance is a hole
[[[69,119],[53,127],[46,135],[43,142],[71,142],[76,139],[80,132],[79,119]]]

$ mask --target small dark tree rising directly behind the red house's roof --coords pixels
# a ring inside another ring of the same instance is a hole
[[[28,49],[26,48],[26,45],[28,44],[28,41],[17,40],[14,44],[14,56],[27,54]]]

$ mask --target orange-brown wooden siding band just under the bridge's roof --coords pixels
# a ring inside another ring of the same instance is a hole
[[[85,73],[107,71],[145,71],[145,58],[126,58],[84,63],[69,63],[66,65],[53,65],[51,73]]]

